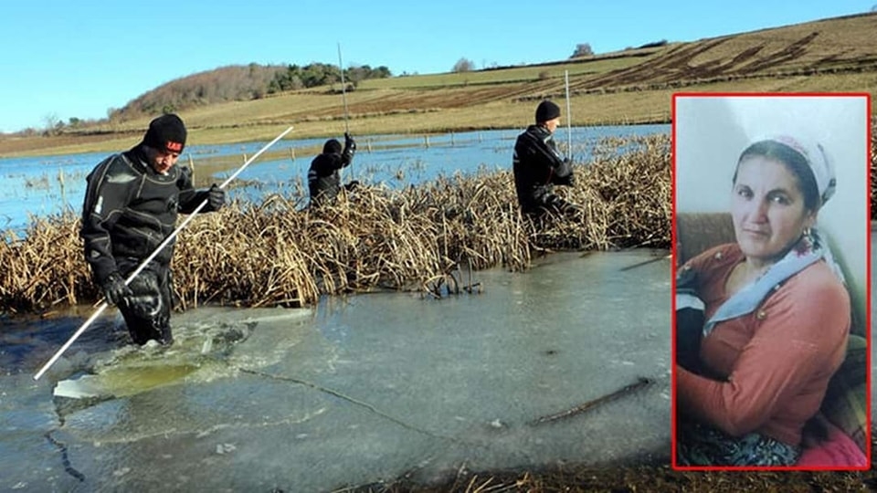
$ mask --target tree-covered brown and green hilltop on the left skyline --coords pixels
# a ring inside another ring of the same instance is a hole
[[[365,79],[391,77],[386,67],[368,65],[344,69],[348,90]],[[334,65],[312,63],[298,65],[233,65],[174,79],[131,100],[121,109],[111,109],[111,121],[128,120],[143,115],[157,115],[196,106],[259,100],[286,90],[306,89],[341,82],[341,70]]]

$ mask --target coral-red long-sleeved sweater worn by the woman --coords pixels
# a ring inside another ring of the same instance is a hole
[[[698,273],[706,320],[729,298],[725,283],[744,260],[730,244],[686,264]],[[830,267],[823,261],[806,267],[758,309],[716,324],[703,338],[701,360],[724,380],[676,367],[680,411],[729,435],[755,431],[798,446],[843,362],[850,324],[850,297]]]

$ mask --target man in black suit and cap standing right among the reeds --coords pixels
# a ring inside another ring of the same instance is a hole
[[[573,168],[559,151],[554,133],[560,107],[544,100],[536,107],[535,124],[514,143],[512,170],[518,204],[527,215],[577,213],[580,208],[554,194],[554,185],[573,184]]]

